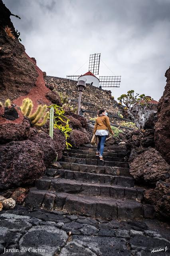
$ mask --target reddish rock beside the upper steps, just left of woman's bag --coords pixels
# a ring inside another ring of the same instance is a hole
[[[87,134],[84,132],[81,132],[79,130],[73,130],[70,133],[70,137],[68,139],[68,142],[72,145],[72,146],[83,146],[85,144],[89,144],[90,140],[87,137]]]

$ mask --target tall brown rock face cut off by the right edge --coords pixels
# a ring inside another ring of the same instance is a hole
[[[161,156],[170,164],[170,68],[166,70],[166,86],[158,103],[158,121],[155,125],[155,146]]]

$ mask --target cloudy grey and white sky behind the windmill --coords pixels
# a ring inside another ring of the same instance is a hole
[[[3,0],[26,53],[49,76],[89,69],[101,53],[100,76],[120,76],[128,90],[159,100],[170,66],[170,0]]]

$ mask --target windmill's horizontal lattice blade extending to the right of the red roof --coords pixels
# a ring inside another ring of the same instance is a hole
[[[121,76],[99,76],[101,87],[120,87]]]

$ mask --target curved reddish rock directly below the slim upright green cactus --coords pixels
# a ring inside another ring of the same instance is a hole
[[[49,166],[51,162],[56,158],[57,153],[55,151],[54,142],[51,137],[42,132],[41,130],[37,131],[31,128],[29,140],[36,143],[42,149],[44,156],[43,161],[45,166]]]

